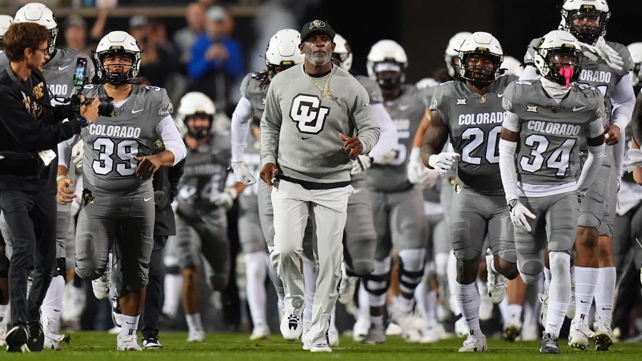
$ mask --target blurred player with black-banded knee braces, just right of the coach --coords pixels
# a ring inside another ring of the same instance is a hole
[[[385,337],[383,313],[386,292],[390,283],[394,249],[399,256],[401,295],[392,313],[392,321],[403,329],[403,337],[419,342],[421,335],[413,324],[413,297],[421,281],[426,260],[426,222],[421,189],[408,180],[406,164],[415,129],[419,127],[424,106],[421,92],[405,84],[408,67],[406,52],[393,40],[380,40],[370,48],[367,69],[383,94],[383,105],[397,128],[399,143],[394,146],[395,157],[387,164],[373,164],[367,172],[372,198],[372,213],[377,234],[374,271],[367,276],[365,288],[369,293],[370,324],[365,342],[380,343]],[[373,317],[374,316],[374,317]]]

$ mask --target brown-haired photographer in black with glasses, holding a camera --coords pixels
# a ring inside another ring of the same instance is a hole
[[[49,105],[40,73],[49,57],[49,37],[42,25],[17,23],[3,39],[10,66],[0,71],[0,205],[13,238],[9,268],[13,328],[6,335],[8,351],[42,349],[40,305],[55,267],[55,149],[98,117],[98,100],[81,109],[83,116],[65,123],[61,123],[64,112]],[[33,283],[26,301],[30,267]]]

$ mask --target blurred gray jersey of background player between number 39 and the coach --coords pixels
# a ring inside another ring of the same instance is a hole
[[[217,206],[210,202],[210,196],[225,189],[229,173],[230,152],[229,132],[213,132],[211,139],[195,150],[187,148],[183,176],[178,184],[178,208],[204,209],[209,211]]]

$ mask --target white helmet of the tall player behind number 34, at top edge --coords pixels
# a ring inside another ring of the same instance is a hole
[[[562,5],[562,26],[581,42],[594,44],[598,37],[606,35],[606,26],[611,18],[606,0],[566,0]],[[577,19],[580,24],[573,24]],[[582,24],[584,19],[597,21],[596,25]]]

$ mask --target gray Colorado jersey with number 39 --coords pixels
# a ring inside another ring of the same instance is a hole
[[[85,85],[89,97],[104,97],[105,85]],[[136,177],[134,157],[151,155],[160,138],[156,127],[173,107],[165,89],[132,85],[132,93],[111,117],[99,116],[80,136],[83,148],[83,183],[94,195],[152,195],[152,179]]]

